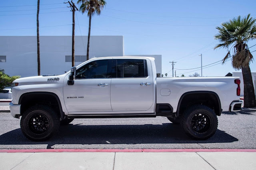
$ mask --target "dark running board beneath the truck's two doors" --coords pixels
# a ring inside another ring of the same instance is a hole
[[[106,115],[67,115],[68,118],[129,118],[129,117],[156,117],[156,114],[106,114]]]

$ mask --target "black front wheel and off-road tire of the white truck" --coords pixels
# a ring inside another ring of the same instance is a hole
[[[20,120],[22,133],[31,141],[46,141],[58,133],[59,127],[60,117],[44,105],[28,108]]]

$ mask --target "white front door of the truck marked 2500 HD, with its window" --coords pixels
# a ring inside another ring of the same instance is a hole
[[[74,85],[64,82],[64,101],[69,114],[112,111],[111,67],[112,59],[94,60],[77,68]]]

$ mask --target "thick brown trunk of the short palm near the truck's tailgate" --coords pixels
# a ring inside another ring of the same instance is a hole
[[[244,107],[256,107],[252,73],[250,67],[242,67],[244,80]]]

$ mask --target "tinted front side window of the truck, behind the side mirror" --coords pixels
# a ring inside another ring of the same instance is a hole
[[[92,61],[76,70],[76,79],[110,78],[108,72],[109,60]]]

